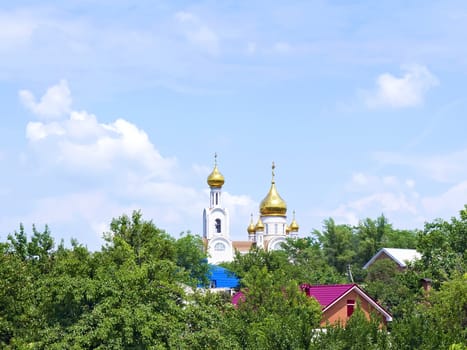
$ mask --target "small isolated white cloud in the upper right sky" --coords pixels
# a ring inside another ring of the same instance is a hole
[[[402,77],[381,74],[376,79],[375,91],[363,92],[368,107],[403,108],[421,105],[428,90],[439,83],[425,66],[403,66],[402,70]]]

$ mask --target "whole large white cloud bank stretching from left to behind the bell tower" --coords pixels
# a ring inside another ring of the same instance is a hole
[[[86,241],[98,245],[102,242],[97,237],[112,217],[141,209],[172,234],[202,233],[197,230],[209,203],[208,190],[186,185],[183,179],[187,172],[205,177],[210,167],[183,170],[177,159],[162,155],[148,134],[130,121],[119,118],[102,123],[92,113],[74,110],[66,80],[48,88],[39,99],[29,90],[21,90],[19,98],[39,119],[26,126],[32,150],[29,161],[41,167],[41,176],[53,177],[57,183],[75,181],[57,192],[54,183],[44,179],[41,186],[46,186],[45,192],[52,186],[50,193],[31,201],[31,212],[21,221],[47,222],[52,227],[85,223],[95,231],[94,238]],[[224,202],[239,227],[257,206],[249,196],[227,192]]]

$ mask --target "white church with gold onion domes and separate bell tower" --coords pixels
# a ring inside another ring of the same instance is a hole
[[[299,226],[295,220],[295,212],[290,224],[287,224],[287,205],[277,192],[274,179],[275,165],[272,163],[271,187],[259,206],[259,217],[256,224],[251,214],[247,227],[248,239],[232,241],[230,239],[229,212],[222,207],[222,186],[224,176],[217,166],[217,155],[214,169],[207,178],[210,188],[209,207],[203,212],[203,240],[210,264],[232,261],[235,252],[247,253],[256,246],[266,251],[281,249],[286,238],[298,237]]]

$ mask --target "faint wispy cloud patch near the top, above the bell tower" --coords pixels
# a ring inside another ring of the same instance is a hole
[[[184,36],[192,45],[213,55],[219,53],[218,35],[200,18],[190,12],[182,11],[175,14],[175,19],[180,24]]]

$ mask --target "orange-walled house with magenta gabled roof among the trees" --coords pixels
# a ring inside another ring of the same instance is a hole
[[[372,313],[381,317],[381,324],[392,321],[391,314],[357,284],[300,285],[307,296],[315,298],[322,308],[321,327],[340,323],[345,326],[355,308],[360,307],[369,319]]]

